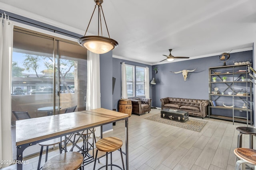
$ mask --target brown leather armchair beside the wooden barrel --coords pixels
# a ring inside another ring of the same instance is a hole
[[[142,114],[151,110],[151,99],[146,98],[135,98],[131,99],[132,101],[132,113]]]

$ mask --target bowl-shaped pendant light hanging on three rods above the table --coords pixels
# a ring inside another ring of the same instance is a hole
[[[79,38],[78,43],[82,47],[85,47],[86,49],[88,49],[89,51],[91,51],[93,53],[104,54],[104,53],[107,53],[108,51],[116,48],[118,46],[118,42],[115,41],[114,39],[111,39],[109,36],[109,33],[108,33],[108,37],[103,37],[103,36],[99,35],[100,30],[101,30],[101,35],[102,35],[102,24],[101,24],[101,12],[100,11],[102,11],[102,15],[103,15],[103,18],[105,21],[107,32],[108,32],[108,27],[107,27],[107,23],[106,23],[105,16],[104,16],[102,6],[101,6],[101,4],[103,3],[103,0],[94,0],[94,2],[96,3],[94,11],[96,9],[96,6],[98,6],[98,36],[96,36],[96,35],[85,36],[85,34],[88,30],[88,27],[90,25],[90,22],[92,20],[92,16],[94,14],[94,11],[93,11],[91,19],[90,19],[87,29],[85,31],[84,37]]]

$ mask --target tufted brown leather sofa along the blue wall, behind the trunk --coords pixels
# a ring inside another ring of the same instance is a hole
[[[206,117],[208,112],[209,100],[184,99],[184,98],[162,98],[160,99],[162,109],[178,109],[188,111],[189,115]]]

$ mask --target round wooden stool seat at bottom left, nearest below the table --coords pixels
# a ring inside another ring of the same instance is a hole
[[[65,152],[48,160],[42,170],[82,170],[84,156],[79,152]]]

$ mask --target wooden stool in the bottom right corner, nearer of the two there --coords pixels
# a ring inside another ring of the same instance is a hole
[[[256,165],[256,150],[249,148],[236,148],[234,154],[241,160],[236,161],[236,170],[239,170],[240,164],[249,163]],[[241,165],[241,169],[245,169],[244,165]]]

